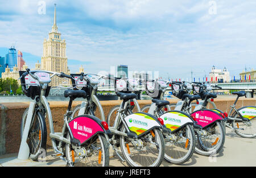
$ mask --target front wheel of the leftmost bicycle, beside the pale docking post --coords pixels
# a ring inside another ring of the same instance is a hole
[[[20,122],[20,138],[22,139],[23,130],[27,121],[28,108],[24,111]],[[29,158],[38,160],[39,156],[46,156],[47,130],[44,116],[41,112],[33,114],[30,130],[28,131],[27,144],[30,148]]]

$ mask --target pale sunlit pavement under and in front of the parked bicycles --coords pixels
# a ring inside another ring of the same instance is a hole
[[[241,138],[236,133],[232,133],[230,129],[227,128],[226,140],[224,144],[224,149],[219,152],[216,157],[205,157],[197,154],[193,154],[192,158],[188,160],[187,163],[182,165],[174,165],[163,161],[161,166],[164,167],[173,167],[173,166],[256,166],[256,138]],[[63,160],[59,158],[52,159],[51,150],[48,151],[48,156],[46,162],[33,162],[32,160],[18,160],[18,154],[9,154],[0,156],[0,166],[3,167],[18,167],[18,166],[54,166],[60,167],[65,166]],[[113,151],[110,148],[110,155],[113,155]],[[110,166],[122,167],[127,166],[124,162],[118,159],[117,156],[112,156],[110,158]]]

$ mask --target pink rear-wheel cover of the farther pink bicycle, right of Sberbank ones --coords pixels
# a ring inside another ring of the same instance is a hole
[[[203,129],[216,121],[223,120],[220,113],[209,109],[200,109],[191,114],[196,118],[197,125],[203,127]]]

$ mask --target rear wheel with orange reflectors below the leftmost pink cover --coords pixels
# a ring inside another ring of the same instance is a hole
[[[69,134],[67,139],[70,140]],[[66,144],[66,159],[69,166],[108,167],[109,147],[105,136],[98,134],[80,147]]]

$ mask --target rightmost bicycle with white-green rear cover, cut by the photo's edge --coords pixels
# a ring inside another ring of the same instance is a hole
[[[195,110],[206,108],[208,103],[213,106],[212,110],[215,110],[217,112],[222,112],[217,109],[216,105],[214,104],[213,100],[203,100],[204,99],[204,93],[209,92],[212,90],[212,88],[218,88],[221,89],[218,85],[210,85],[207,82],[197,83],[197,86],[195,85],[193,87],[193,92],[195,94],[198,94],[202,98],[202,102],[195,107]],[[244,138],[255,138],[256,137],[256,107],[255,106],[243,106],[240,109],[236,109],[237,101],[240,97],[246,96],[246,93],[244,91],[240,92],[233,92],[232,94],[236,94],[237,98],[234,101],[234,104],[231,105],[231,109],[229,111],[229,114],[224,113],[226,116],[226,119],[223,122],[224,128],[228,127],[229,129],[232,129],[236,134],[244,137]],[[234,112],[233,112],[234,111]],[[233,113],[232,113],[233,112]],[[230,126],[231,125],[231,126]]]

